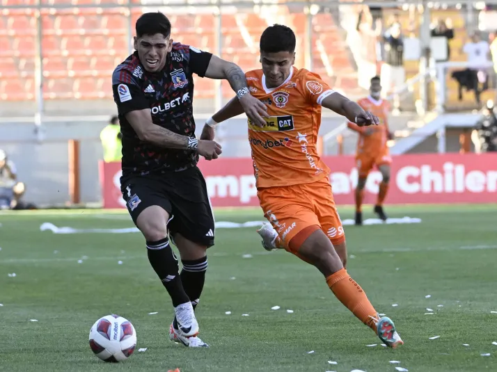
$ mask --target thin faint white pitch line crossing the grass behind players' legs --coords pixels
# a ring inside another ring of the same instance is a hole
[[[210,248],[212,250],[212,248]],[[261,248],[262,249],[262,248]],[[461,247],[427,247],[427,248],[386,248],[381,250],[353,250],[349,253],[354,254],[370,254],[370,253],[393,253],[393,252],[430,252],[430,251],[443,251],[443,250],[489,250],[489,249],[497,249],[497,245],[464,245]],[[256,256],[266,256],[269,254],[278,254],[277,252],[251,252],[250,254]],[[226,252],[212,252],[207,254],[210,257],[240,257],[242,259],[241,253],[226,253]],[[38,264],[44,262],[71,262],[74,261],[77,263],[79,259],[81,259],[82,255],[79,257],[67,257],[67,258],[42,258],[42,259],[0,259],[0,264]],[[127,261],[131,259],[145,259],[147,255],[145,254],[145,250],[143,250],[142,255],[137,256],[120,256],[116,255],[113,257],[105,256],[105,257],[88,257],[83,259],[83,261],[112,261],[112,260],[121,260]]]

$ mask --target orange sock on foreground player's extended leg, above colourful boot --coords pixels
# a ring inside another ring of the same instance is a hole
[[[365,325],[368,325],[368,327],[374,330],[374,332],[377,332],[377,312],[371,305],[371,302],[368,300],[363,289],[352,279],[352,277],[350,277],[345,268],[326,277],[326,283],[335,294],[336,298],[338,298],[352,314],[357,316]]]

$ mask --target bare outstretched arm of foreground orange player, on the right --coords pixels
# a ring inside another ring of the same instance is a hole
[[[369,111],[364,111],[356,102],[340,95],[338,92],[334,92],[332,95],[325,97],[321,102],[321,106],[329,108],[339,115],[345,116],[349,122],[353,122],[359,127],[379,124],[377,116],[372,115]]]

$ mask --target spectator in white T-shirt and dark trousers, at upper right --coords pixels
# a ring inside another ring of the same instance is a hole
[[[468,69],[465,71],[468,85],[475,90],[475,99],[480,104],[480,95],[487,89],[490,46],[487,41],[482,40],[480,32],[471,35],[471,41],[466,42],[463,52],[468,56]],[[483,86],[483,87],[482,87]],[[459,85],[459,99],[461,99],[461,86]]]

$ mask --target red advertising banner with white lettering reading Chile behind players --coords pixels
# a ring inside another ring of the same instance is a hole
[[[337,204],[354,204],[354,156],[324,156]],[[120,163],[101,163],[104,208],[122,208]],[[213,207],[258,206],[249,158],[201,160],[198,164]],[[373,170],[365,203],[376,200],[381,174]],[[497,202],[497,154],[409,154],[393,156],[386,204]]]

